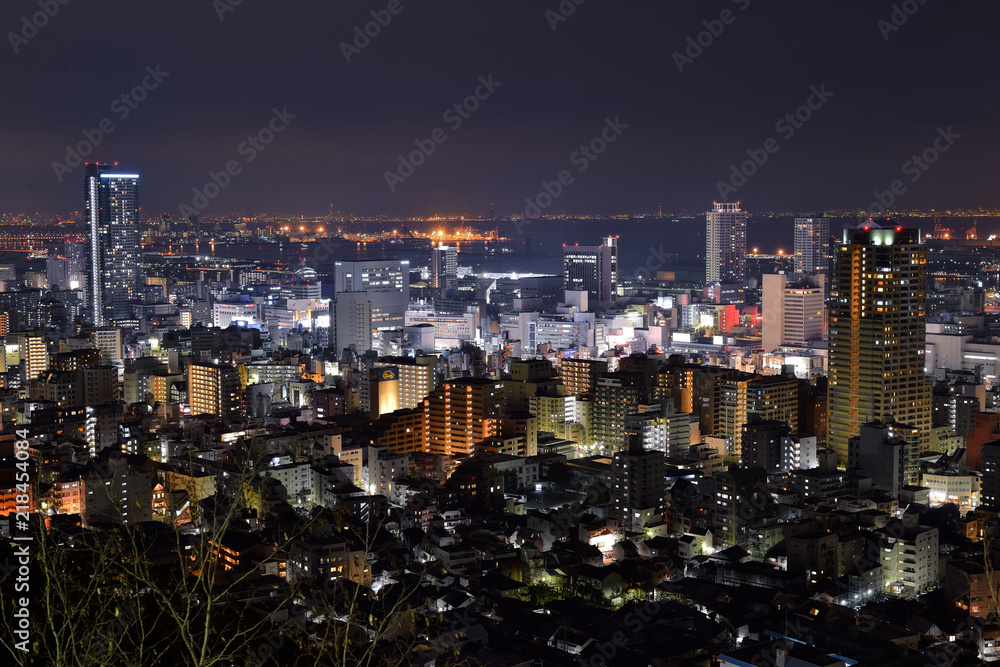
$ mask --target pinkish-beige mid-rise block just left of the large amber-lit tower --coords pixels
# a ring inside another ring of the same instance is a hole
[[[793,282],[788,282],[793,278]],[[764,275],[761,345],[779,347],[821,341],[826,328],[826,289],[822,274]]]

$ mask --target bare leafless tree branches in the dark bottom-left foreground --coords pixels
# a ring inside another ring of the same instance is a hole
[[[240,473],[233,488],[249,485],[256,461],[234,461]],[[29,650],[4,641],[0,656],[25,666],[378,667],[408,662],[421,636],[447,632],[419,612],[421,573],[404,571],[378,591],[356,581],[366,579],[358,572],[371,570],[369,554],[397,551],[384,518],[365,524],[349,512],[321,510],[288,525],[264,521],[265,528],[252,533],[247,497],[220,488],[195,507],[195,526],[81,528],[59,515],[49,526],[39,524],[31,553]],[[296,540],[322,525],[351,540],[345,571],[295,581],[269,574],[280,571]],[[228,535],[259,538],[264,555],[249,567],[230,562]],[[5,637],[14,636],[18,623],[14,586],[15,577],[0,580]]]

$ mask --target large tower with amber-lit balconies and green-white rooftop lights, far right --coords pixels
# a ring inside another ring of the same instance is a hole
[[[920,230],[884,224],[844,230],[830,281],[828,443],[842,463],[869,422],[915,428],[921,451],[930,438],[927,249]]]

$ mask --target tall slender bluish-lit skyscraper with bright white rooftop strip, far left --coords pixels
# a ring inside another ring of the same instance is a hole
[[[87,308],[100,326],[132,315],[139,279],[139,176],[88,164],[84,207],[90,233]]]

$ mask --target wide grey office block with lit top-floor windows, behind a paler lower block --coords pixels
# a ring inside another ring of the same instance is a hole
[[[378,259],[362,262],[336,262],[333,290],[367,292],[371,302],[374,329],[399,329],[410,304],[410,261]],[[336,298],[336,296],[334,297]]]

